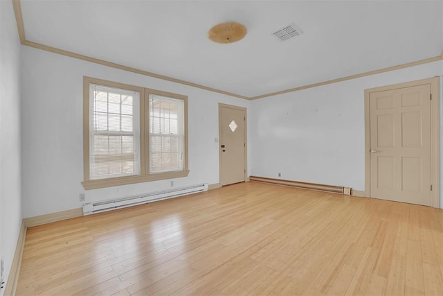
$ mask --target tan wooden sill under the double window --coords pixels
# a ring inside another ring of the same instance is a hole
[[[189,174],[189,171],[186,170],[186,171],[178,171],[178,172],[156,173],[156,174],[151,174],[151,175],[113,177],[113,178],[107,178],[107,179],[83,181],[82,185],[85,190],[99,189],[99,188],[106,188],[106,187],[112,187],[112,186],[129,185],[129,184],[136,184],[136,183],[174,179],[177,177],[187,177],[188,174]]]

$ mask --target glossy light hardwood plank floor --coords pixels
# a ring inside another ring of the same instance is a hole
[[[443,295],[443,211],[242,183],[28,229],[18,295]]]

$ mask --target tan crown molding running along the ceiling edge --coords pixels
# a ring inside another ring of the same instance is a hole
[[[124,66],[122,64],[116,64],[114,62],[108,62],[106,60],[100,60],[98,58],[92,58],[92,57],[89,57],[87,55],[81,55],[79,53],[73,53],[71,51],[65,51],[63,49],[57,49],[57,48],[52,47],[52,46],[47,46],[47,45],[44,45],[44,44],[39,44],[37,42],[32,42],[32,41],[26,40],[24,21],[23,21],[23,14],[21,13],[21,3],[20,3],[20,0],[12,0],[12,4],[14,6],[15,21],[17,22],[17,30],[19,32],[20,42],[21,42],[21,44],[23,44],[25,46],[30,46],[30,47],[33,47],[35,49],[41,49],[42,51],[49,51],[49,52],[57,53],[57,54],[60,54],[60,55],[66,55],[66,56],[69,56],[71,58],[76,58],[76,59],[84,60],[84,61],[87,61],[87,62],[93,62],[93,63],[96,63],[96,64],[102,64],[103,66],[112,67],[112,68],[120,69],[120,70],[123,70],[123,71],[129,71],[129,72],[141,74],[141,75],[144,75],[144,76],[150,76],[150,77],[158,78],[158,79],[161,79],[161,80],[167,80],[167,81],[170,81],[170,82],[179,83],[181,85],[188,85],[190,87],[197,87],[199,89],[205,89],[205,90],[207,90],[209,92],[216,92],[218,94],[226,94],[227,96],[234,96],[236,98],[242,98],[244,100],[256,100],[258,98],[267,98],[267,97],[270,97],[270,96],[277,96],[278,94],[287,94],[289,92],[297,92],[297,91],[302,90],[302,89],[309,89],[309,88],[313,88],[313,87],[319,87],[319,86],[322,86],[322,85],[330,85],[332,83],[341,82],[341,81],[345,81],[345,80],[351,80],[351,79],[355,79],[355,78],[371,76],[371,75],[378,74],[378,73],[384,73],[384,72],[388,72],[388,71],[395,71],[395,70],[398,70],[398,69],[414,67],[414,66],[417,66],[419,64],[426,64],[426,63],[429,63],[429,62],[436,62],[436,61],[439,61],[439,60],[443,60],[443,51],[442,51],[442,53],[440,55],[437,55],[437,56],[432,57],[432,58],[426,58],[426,59],[417,60],[417,61],[414,61],[414,62],[407,62],[405,64],[398,64],[397,66],[386,67],[386,68],[377,69],[377,70],[373,70],[373,71],[357,73],[357,74],[350,75],[350,76],[345,76],[345,77],[336,78],[336,79],[332,79],[332,80],[326,80],[326,81],[323,81],[323,82],[313,83],[311,85],[303,85],[303,86],[300,86],[300,87],[293,87],[293,88],[290,88],[290,89],[284,89],[284,90],[282,90],[280,92],[271,92],[269,94],[262,94],[260,96],[248,97],[248,96],[242,96],[242,95],[239,95],[239,94],[234,94],[232,92],[226,92],[226,91],[221,90],[221,89],[215,89],[213,87],[206,87],[204,85],[199,85],[197,83],[189,82],[189,81],[186,81],[186,80],[172,78],[172,77],[169,77],[169,76],[163,76],[163,75],[160,75],[160,74],[157,74],[157,73],[152,73],[152,72],[149,72],[149,71],[143,71],[141,69],[127,67],[127,66]]]

